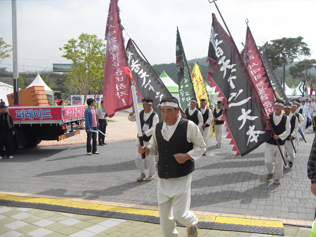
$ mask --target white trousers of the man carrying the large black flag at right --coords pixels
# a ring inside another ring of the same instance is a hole
[[[280,146],[281,151],[284,146]],[[277,145],[265,143],[264,164],[269,173],[274,173],[274,179],[281,179],[283,176],[283,159]]]

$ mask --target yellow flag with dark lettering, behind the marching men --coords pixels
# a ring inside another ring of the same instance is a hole
[[[195,62],[192,73],[191,73],[192,84],[197,98],[197,104],[201,106],[201,99],[206,100],[206,106],[210,107],[209,95],[207,94],[205,82],[197,62]]]

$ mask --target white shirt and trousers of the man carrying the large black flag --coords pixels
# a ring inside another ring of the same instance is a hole
[[[283,113],[279,116],[273,112],[273,122],[278,125],[282,119]],[[285,131],[279,135],[281,140],[287,138],[291,131],[291,125],[289,117],[286,116]],[[284,150],[284,146],[280,146],[281,151]],[[274,173],[274,179],[281,179],[283,176],[283,159],[277,145],[265,143],[264,150],[264,164],[267,167],[269,173]]]

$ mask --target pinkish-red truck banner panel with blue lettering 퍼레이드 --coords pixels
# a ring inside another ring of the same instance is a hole
[[[62,120],[62,107],[8,107],[8,111],[13,121]]]

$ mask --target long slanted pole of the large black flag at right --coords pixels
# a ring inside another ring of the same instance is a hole
[[[214,3],[214,4],[215,4],[215,7],[216,7],[216,9],[217,9],[219,15],[221,16],[222,21],[224,22],[224,25],[225,25],[225,27],[226,27],[226,29],[227,29],[227,31],[228,31],[228,34],[229,34],[229,36],[230,36],[230,38],[231,38],[231,40],[232,40],[232,42],[233,42],[233,44],[234,44],[234,46],[235,46],[235,48],[236,48],[236,51],[238,52],[238,55],[239,55],[239,57],[241,58],[240,61],[242,62],[242,64],[244,65],[244,67],[245,67],[245,69],[246,69],[246,72],[247,72],[247,74],[248,74],[248,76],[249,76],[249,80],[250,80],[250,82],[251,82],[253,88],[256,88],[255,85],[254,85],[254,83],[253,83],[253,81],[251,80],[251,76],[250,76],[250,74],[249,74],[248,68],[246,67],[245,62],[244,62],[243,58],[242,58],[241,55],[240,55],[240,52],[239,52],[239,50],[238,50],[238,47],[237,47],[237,45],[236,45],[236,43],[235,43],[235,41],[234,41],[234,39],[233,39],[233,37],[232,37],[232,35],[231,35],[231,33],[230,33],[228,27],[227,27],[227,25],[226,25],[226,22],[225,22],[225,20],[224,20],[224,18],[223,18],[223,16],[222,16],[222,13],[220,12],[220,10],[218,9],[218,7],[217,7],[217,5],[216,5],[216,3],[215,3],[215,1],[217,1],[217,0],[213,0],[213,1],[208,0],[208,1],[209,1],[209,3]],[[256,89],[255,89],[254,91],[255,91],[256,94],[257,94],[258,100],[260,101],[260,105],[261,105],[261,107],[262,107],[262,109],[263,109],[263,111],[264,111],[264,114],[267,115],[267,112],[265,111],[265,108],[264,108],[264,106],[263,106],[263,104],[262,104],[262,101],[261,101],[261,99],[260,99],[260,96],[259,96],[259,94],[258,94],[258,91],[257,91]],[[272,132],[273,136],[276,135],[275,132],[274,132],[274,130],[273,130],[273,127],[272,127],[272,124],[271,124],[270,119],[267,119],[267,120],[268,120],[268,123],[269,123],[269,125],[270,125],[271,132]],[[283,152],[282,152],[282,150],[281,150],[280,144],[279,144],[278,140],[275,140],[275,141],[276,141],[276,145],[277,145],[277,147],[279,148],[279,151],[280,151],[280,153],[281,153],[281,156],[282,156],[284,165],[286,166],[287,164],[286,164],[286,162],[285,162],[285,159],[284,159]]]

